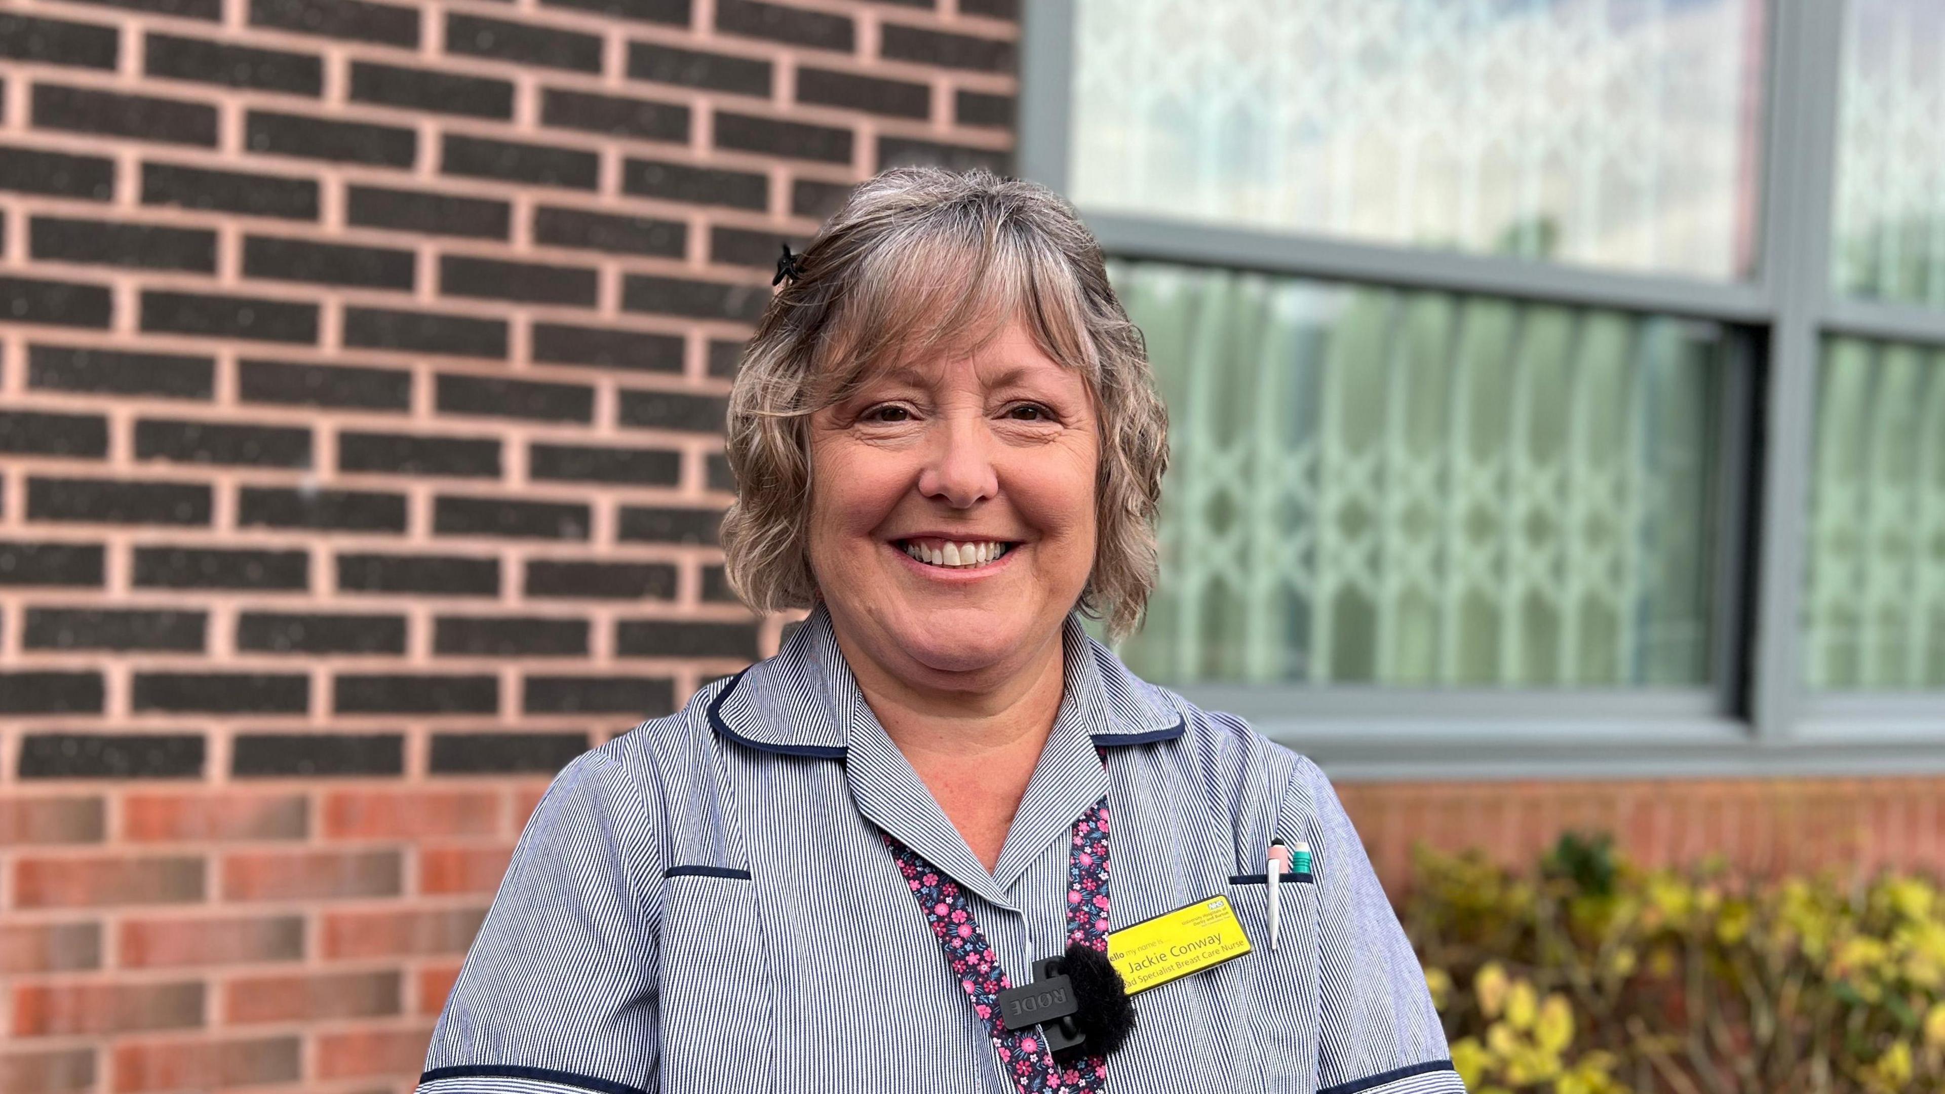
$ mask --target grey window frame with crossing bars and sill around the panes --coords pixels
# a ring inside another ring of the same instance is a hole
[[[1029,0],[1017,173],[1066,193],[1076,0]],[[1750,331],[1725,374],[1717,679],[1669,689],[1186,687],[1362,779],[1945,771],[1945,695],[1811,693],[1799,611],[1821,343],[1945,345],[1945,311],[1848,300],[1830,278],[1830,202],[1848,0],[1770,0],[1760,255],[1743,282],[1099,214],[1114,257],[1492,294],[1710,319]],[[1426,714],[1435,711],[1435,714]],[[1597,712],[1597,714],[1589,714]]]

